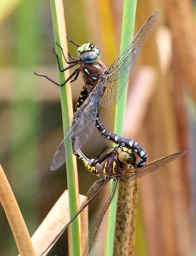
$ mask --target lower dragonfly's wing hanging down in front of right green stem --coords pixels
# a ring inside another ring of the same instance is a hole
[[[108,208],[116,194],[117,188],[118,188],[118,182],[119,180],[113,180],[110,190],[109,190],[109,194],[107,196],[106,202],[103,206],[103,209],[99,215],[99,217],[97,218],[97,220],[95,221],[93,227],[90,230],[90,233],[87,237],[87,240],[85,242],[84,245],[84,252],[82,254],[82,256],[87,256],[90,255],[90,253],[93,251],[93,248],[95,246],[95,243],[97,241],[97,237],[99,235],[99,231],[103,222],[103,218],[105,217],[106,212],[108,211]]]

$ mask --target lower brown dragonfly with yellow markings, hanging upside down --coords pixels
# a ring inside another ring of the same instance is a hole
[[[107,146],[95,159],[88,159],[81,152],[81,150],[78,149],[76,156],[83,162],[89,172],[97,175],[98,177],[100,177],[100,179],[96,180],[94,184],[90,187],[84,201],[79,207],[78,212],[64,226],[64,228],[57,234],[57,236],[55,236],[47,249],[41,255],[43,255],[50,248],[50,246],[56,242],[56,240],[65,231],[65,229],[70,225],[70,223],[72,223],[72,221],[85,209],[85,207],[87,207],[87,205],[94,199],[99,191],[109,182],[109,180],[113,180],[111,182],[109,193],[103,209],[99,214],[97,220],[95,221],[93,227],[91,228],[85,242],[82,256],[90,255],[96,244],[96,240],[99,235],[104,216],[108,211],[109,206],[112,203],[112,200],[116,194],[119,180],[136,180],[149,172],[153,172],[163,167],[165,164],[170,163],[171,161],[177,159],[180,156],[183,156],[184,154],[185,151],[177,152],[172,155],[164,156],[153,162],[150,162],[139,169],[135,169],[132,167],[132,163],[138,156],[135,151],[130,148],[126,148],[121,145],[116,148]]]

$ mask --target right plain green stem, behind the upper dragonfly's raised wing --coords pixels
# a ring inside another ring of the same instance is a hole
[[[124,0],[120,52],[123,52],[126,46],[132,41],[135,24],[136,5],[137,0]],[[119,136],[123,136],[124,132],[124,116],[126,110],[127,90],[128,84],[125,87],[124,92],[116,105],[114,133],[118,134]],[[109,210],[109,226],[105,256],[113,255],[117,199],[118,191],[115,198],[113,199]]]

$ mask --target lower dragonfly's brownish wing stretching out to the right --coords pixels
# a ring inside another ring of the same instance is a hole
[[[132,168],[125,172],[125,174],[121,176],[121,179],[127,181],[138,179],[149,172],[156,171],[157,169],[163,167],[165,164],[170,163],[171,161],[177,159],[180,156],[183,156],[184,154],[185,151],[181,151],[170,156],[159,158],[153,162],[146,164],[144,167],[141,167],[139,169]]]

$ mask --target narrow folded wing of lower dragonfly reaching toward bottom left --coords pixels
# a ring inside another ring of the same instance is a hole
[[[61,231],[57,234],[57,236],[55,236],[55,238],[52,240],[52,242],[49,244],[49,246],[46,248],[46,250],[44,252],[41,253],[41,255],[43,255],[49,248],[50,246],[52,246],[52,244],[54,244],[57,239],[62,235],[62,233],[65,231],[65,229],[70,225],[70,223],[72,223],[72,221],[79,215],[80,212],[82,212],[85,207],[87,207],[87,205],[93,200],[93,198],[98,194],[98,192],[100,191],[100,189],[109,181],[109,179],[99,179],[97,181],[94,182],[94,184],[90,187],[90,189],[87,192],[87,195],[85,197],[85,199],[83,200],[82,204],[80,205],[80,208],[78,210],[78,212],[74,215],[74,217],[64,226],[63,229],[61,229]]]

